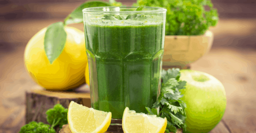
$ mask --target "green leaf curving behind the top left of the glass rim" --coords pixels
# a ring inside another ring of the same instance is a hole
[[[87,1],[76,8],[72,13],[65,18],[64,24],[83,23],[83,9],[89,7],[106,7],[110,6],[109,3],[104,1]]]

